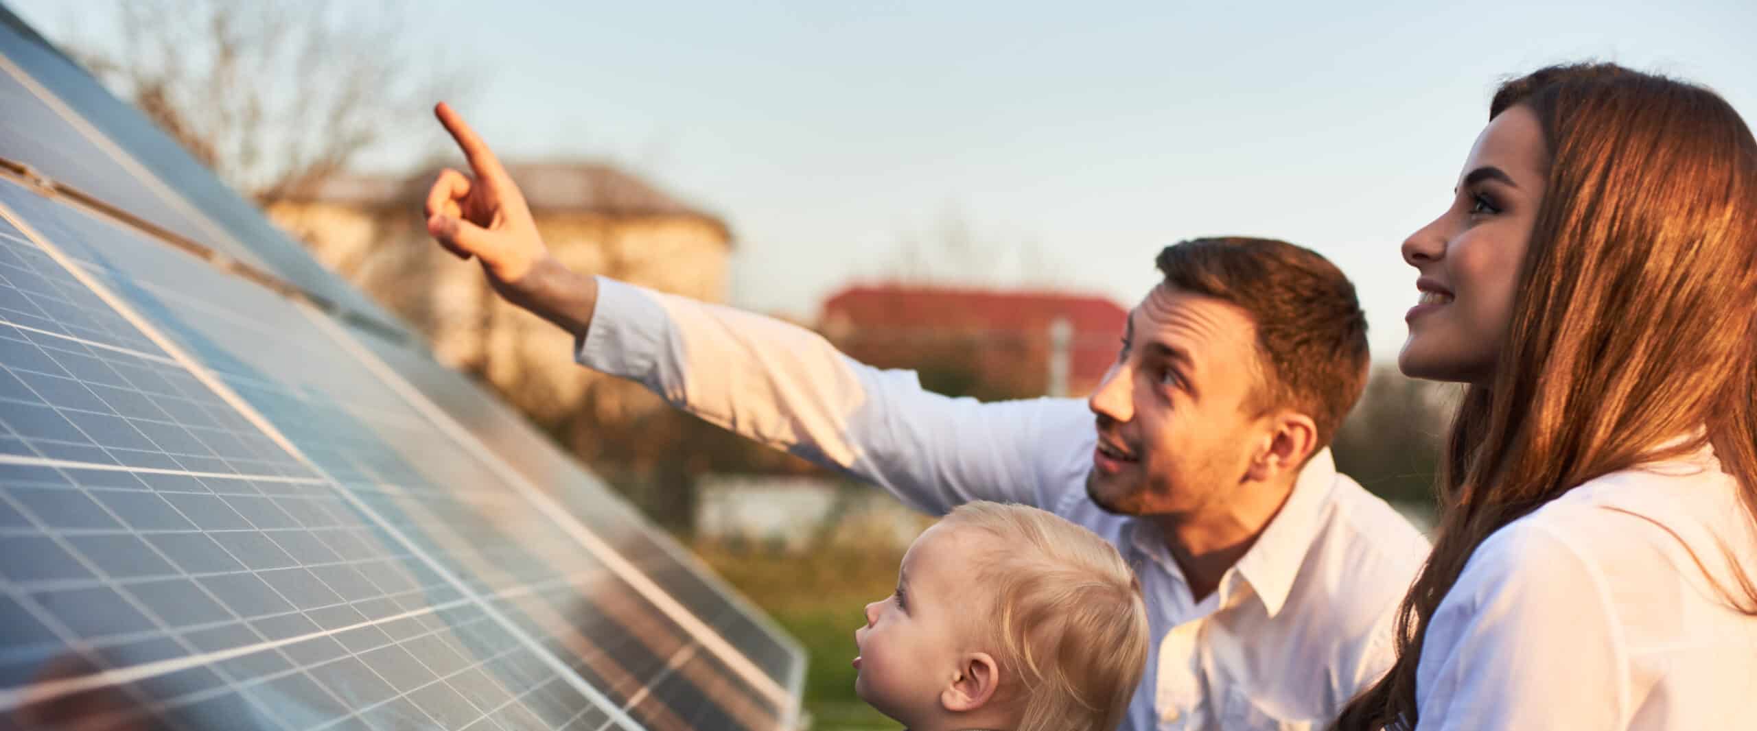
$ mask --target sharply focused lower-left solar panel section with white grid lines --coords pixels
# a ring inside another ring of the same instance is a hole
[[[0,239],[7,285],[46,283],[33,299],[95,313],[88,330],[125,325],[14,228]],[[478,603],[163,351],[0,336],[0,687],[218,654],[58,706],[146,727],[603,726],[555,678],[534,682],[536,654]],[[272,648],[227,657],[251,647]]]

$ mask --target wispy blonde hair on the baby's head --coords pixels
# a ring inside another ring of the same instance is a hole
[[[1001,541],[979,557],[993,606],[973,619],[1000,648],[1001,692],[1024,703],[1019,731],[1116,729],[1147,662],[1147,606],[1116,548],[1023,504],[966,503],[944,522]]]

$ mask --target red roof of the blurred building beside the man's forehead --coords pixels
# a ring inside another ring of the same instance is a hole
[[[1116,360],[1128,309],[1095,295],[1030,290],[977,290],[924,285],[850,286],[824,300],[822,329],[831,339],[982,332],[1047,348],[1049,327],[1065,318],[1074,329],[1068,381],[1086,392]],[[1045,350],[1047,353],[1047,350]]]

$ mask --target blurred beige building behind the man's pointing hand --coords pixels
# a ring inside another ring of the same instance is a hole
[[[543,241],[575,271],[726,299],[731,232],[722,220],[604,163],[511,163],[508,172]],[[571,337],[503,302],[480,267],[429,239],[422,202],[436,174],[330,177],[271,206],[269,216],[406,318],[443,362],[487,380],[582,457],[592,457],[583,443],[597,439],[569,434],[578,431],[569,423],[625,423],[662,409],[640,387],[575,366]],[[578,418],[582,409],[590,418]]]

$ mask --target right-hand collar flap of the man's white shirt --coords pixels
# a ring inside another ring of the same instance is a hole
[[[1263,527],[1263,534],[1256,536],[1256,543],[1244,552],[1233,568],[1263,601],[1269,617],[1281,612],[1281,604],[1288,601],[1300,564],[1305,562],[1305,552],[1316,539],[1318,517],[1334,483],[1335,460],[1325,448],[1305,462],[1298,480],[1293,481],[1288,501],[1281,504],[1276,517]]]

